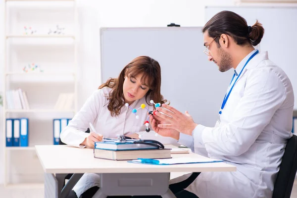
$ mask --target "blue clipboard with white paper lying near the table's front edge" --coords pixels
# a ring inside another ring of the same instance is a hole
[[[128,161],[130,163],[138,164],[153,164],[153,165],[171,165],[171,164],[193,164],[193,163],[214,163],[222,162],[223,160],[219,159],[210,159],[207,157],[201,158],[191,158],[191,157],[178,157],[172,159],[144,159],[139,158],[135,160]]]

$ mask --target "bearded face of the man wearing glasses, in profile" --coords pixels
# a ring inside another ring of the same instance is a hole
[[[221,39],[220,37],[218,37]],[[218,44],[214,41],[214,38],[209,37],[208,31],[205,31],[203,34],[204,46],[208,48],[206,53],[208,55],[208,60],[213,61],[218,67],[219,71],[225,72],[231,69],[232,67],[232,57],[231,55],[224,49],[224,46],[218,46]]]

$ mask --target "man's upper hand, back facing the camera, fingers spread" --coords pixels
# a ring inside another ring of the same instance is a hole
[[[192,135],[192,131],[198,125],[194,122],[191,115],[186,111],[185,114],[176,110],[172,106],[162,104],[162,107],[157,107],[159,112],[155,112],[157,116],[164,120],[164,123],[158,123],[158,127],[161,129],[174,129],[180,133]],[[166,114],[162,114],[162,113]]]

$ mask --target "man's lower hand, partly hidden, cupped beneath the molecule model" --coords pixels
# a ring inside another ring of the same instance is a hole
[[[157,134],[164,136],[164,137],[171,137],[176,140],[179,140],[179,132],[174,129],[165,129],[165,128],[159,128],[159,124],[166,124],[166,120],[157,116],[157,115],[149,115],[149,121],[150,125],[152,127],[152,130],[156,132]]]

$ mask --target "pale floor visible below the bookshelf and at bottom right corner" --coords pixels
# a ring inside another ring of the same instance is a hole
[[[44,198],[44,189],[5,189],[0,185],[1,198]],[[295,180],[291,198],[297,198],[297,179]]]

